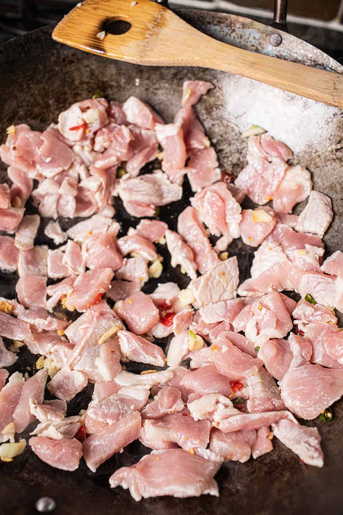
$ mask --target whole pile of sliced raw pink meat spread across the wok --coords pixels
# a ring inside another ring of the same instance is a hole
[[[9,127],[0,147],[12,184],[0,185],[0,267],[16,294],[0,298],[0,442],[24,450],[27,430],[46,464],[83,459],[95,473],[139,440],[151,453],[109,479],[136,501],[217,496],[223,462],[263,456],[273,436],[322,467],[317,426],[343,394],[343,253],[324,260],[322,241],[331,200],[268,133],[250,136],[230,184],[194,108],[212,88],[186,81],[169,124],[135,96],[86,99],[43,132]],[[254,249],[241,283],[237,238]],[[24,346],[37,357],[25,375],[11,368]]]

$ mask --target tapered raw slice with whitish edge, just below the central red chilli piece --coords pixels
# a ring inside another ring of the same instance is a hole
[[[118,336],[122,361],[148,363],[157,367],[165,366],[166,355],[158,345],[129,331],[118,331]]]

